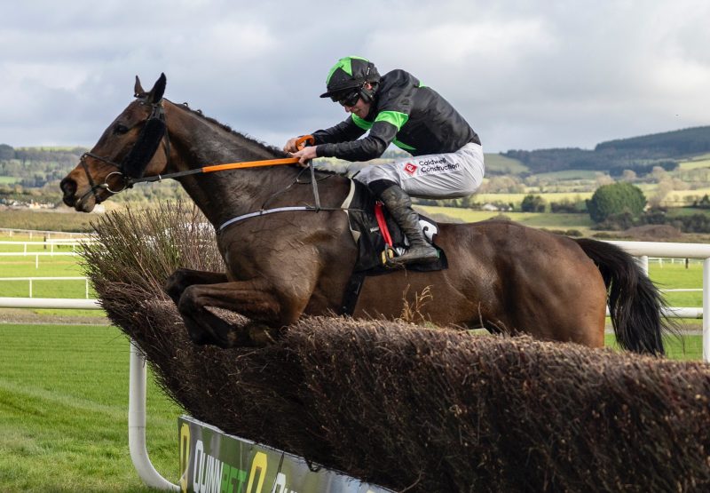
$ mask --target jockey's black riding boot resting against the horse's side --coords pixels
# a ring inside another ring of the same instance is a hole
[[[391,258],[388,263],[395,265],[428,264],[436,261],[438,251],[424,238],[422,226],[419,224],[419,216],[412,210],[412,201],[409,195],[394,185],[384,190],[380,194],[380,199],[409,240],[409,250],[398,257]]]

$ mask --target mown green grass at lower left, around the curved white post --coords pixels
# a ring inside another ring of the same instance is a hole
[[[150,491],[128,449],[129,343],[110,326],[0,325],[3,491]],[[180,410],[149,376],[147,444],[177,481]]]

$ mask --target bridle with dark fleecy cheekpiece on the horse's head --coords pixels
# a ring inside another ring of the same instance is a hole
[[[148,103],[141,102],[140,104],[146,105]],[[151,114],[142,122],[144,125],[140,135],[138,135],[138,139],[133,144],[133,147],[131,147],[129,153],[122,159],[121,163],[116,163],[107,157],[96,155],[89,151],[83,153],[79,158],[79,163],[82,165],[84,173],[86,173],[89,185],[91,185],[91,188],[79,198],[79,202],[83,202],[89,195],[94,195],[96,203],[102,203],[105,199],[101,199],[99,195],[100,190],[106,190],[109,194],[115,195],[127,188],[133,187],[135,183],[141,181],[140,179],[143,177],[146,166],[153,159],[155,152],[157,152],[163,140],[165,141],[165,146],[163,147],[165,149],[165,160],[166,163],[170,163],[170,136],[168,135],[168,126],[165,124],[165,108],[163,107],[162,99],[152,103],[151,107]],[[91,177],[89,165],[86,163],[87,157],[114,166],[116,171],[108,173],[104,177],[103,183],[96,183]],[[113,189],[108,185],[108,180],[113,175],[117,175],[122,179],[122,187]]]

